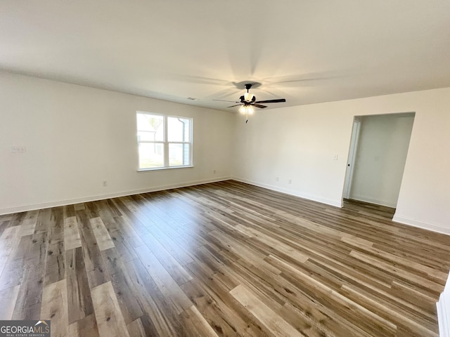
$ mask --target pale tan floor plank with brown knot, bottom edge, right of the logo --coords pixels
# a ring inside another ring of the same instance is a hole
[[[111,282],[95,286],[91,290],[91,295],[99,336],[129,337]]]

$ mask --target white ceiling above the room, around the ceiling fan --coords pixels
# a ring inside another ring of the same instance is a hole
[[[449,0],[0,1],[2,70],[219,110],[247,81],[270,107],[448,87],[449,60]]]

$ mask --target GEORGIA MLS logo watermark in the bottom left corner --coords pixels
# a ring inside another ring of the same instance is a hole
[[[0,321],[0,337],[50,337],[50,320]]]

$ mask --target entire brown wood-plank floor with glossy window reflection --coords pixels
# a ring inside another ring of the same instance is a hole
[[[236,181],[0,216],[0,319],[52,336],[437,336],[450,237]]]

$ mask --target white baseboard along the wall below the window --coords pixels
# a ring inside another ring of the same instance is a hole
[[[201,184],[207,184],[207,183],[216,183],[218,181],[229,180],[229,179],[231,179],[231,178],[229,176],[226,176],[226,177],[214,178],[214,179],[189,181],[186,183],[178,183],[178,184],[173,184],[173,185],[160,185],[160,186],[146,187],[146,188],[143,188],[140,190],[129,190],[129,191],[122,191],[122,192],[108,193],[108,194],[98,194],[98,195],[93,195],[90,197],[81,197],[81,198],[74,198],[74,199],[43,202],[43,203],[39,203],[39,204],[6,207],[4,209],[0,209],[0,215],[19,213],[19,212],[25,212],[25,211],[33,211],[35,209],[49,209],[50,207],[79,204],[81,202],[97,201],[97,200],[117,198],[117,197],[125,197],[127,195],[133,195],[133,194],[170,190],[172,188],[188,187],[188,186],[195,186],[195,185],[201,185]]]

